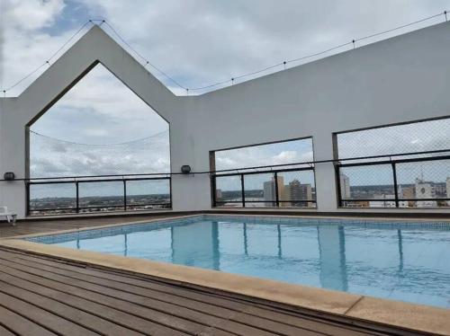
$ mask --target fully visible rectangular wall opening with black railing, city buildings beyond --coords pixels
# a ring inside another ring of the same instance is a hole
[[[315,208],[312,153],[311,137],[213,152],[213,206]]]

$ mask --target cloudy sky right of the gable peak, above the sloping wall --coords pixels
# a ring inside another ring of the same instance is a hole
[[[191,87],[329,49],[442,12],[449,4],[410,0],[300,4],[296,0],[81,1],[102,13],[139,52]]]

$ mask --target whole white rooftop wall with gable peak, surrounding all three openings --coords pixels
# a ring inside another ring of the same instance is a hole
[[[209,152],[221,148],[312,136],[314,158],[331,159],[333,132],[450,116],[449,42],[450,23],[441,23],[212,93],[175,97],[95,27],[21,96],[0,99],[0,172],[24,177],[26,125],[96,60],[170,123],[172,171],[190,164],[195,172],[209,170]],[[332,164],[317,164],[316,184],[319,211],[340,210]],[[211,208],[208,175],[175,176],[172,185],[175,210]],[[24,200],[23,182],[1,182],[0,203],[21,217]]]

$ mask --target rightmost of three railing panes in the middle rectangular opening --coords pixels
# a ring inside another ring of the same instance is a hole
[[[314,187],[314,172],[278,172],[278,179],[283,182],[283,192],[280,194],[280,207],[315,208],[316,199]],[[280,181],[279,181],[280,182]],[[310,200],[307,202],[306,200]]]

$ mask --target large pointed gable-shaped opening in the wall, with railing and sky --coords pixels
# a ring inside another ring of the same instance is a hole
[[[171,208],[169,124],[101,64],[27,137],[29,215]]]

